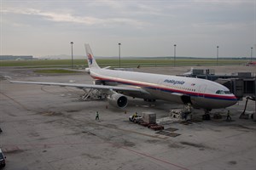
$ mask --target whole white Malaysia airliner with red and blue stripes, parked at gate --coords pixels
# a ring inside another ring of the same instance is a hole
[[[126,96],[144,100],[161,99],[179,104],[190,104],[206,111],[235,105],[236,96],[228,88],[217,82],[193,77],[177,77],[135,71],[117,71],[100,68],[96,63],[89,44],[85,44],[90,77],[94,84],[59,82],[18,82],[61,87],[100,89],[107,95],[109,104],[125,108]],[[122,86],[119,86],[122,85]]]

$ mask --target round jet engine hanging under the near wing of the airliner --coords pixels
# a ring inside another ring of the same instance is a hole
[[[108,103],[115,107],[125,108],[128,104],[128,99],[123,94],[111,94],[107,97]]]

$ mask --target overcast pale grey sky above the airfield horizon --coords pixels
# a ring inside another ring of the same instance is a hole
[[[250,57],[256,0],[0,0],[1,54]]]

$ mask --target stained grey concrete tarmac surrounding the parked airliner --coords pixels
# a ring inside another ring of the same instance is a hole
[[[212,66],[215,72],[251,71],[256,67]],[[181,74],[190,67],[140,68],[163,74]],[[195,67],[196,68],[196,67]],[[202,68],[202,67],[200,67]],[[206,67],[206,69],[208,66]],[[92,83],[84,73],[36,74],[34,69],[0,68],[0,148],[7,157],[8,170],[61,169],[247,169],[256,166],[256,122],[239,119],[245,99],[227,109],[212,110],[222,119],[180,123],[165,122],[159,132],[128,121],[136,111],[169,116],[183,105],[129,98],[121,110],[105,100],[81,101],[83,91],[5,80]],[[230,110],[232,122],[225,116]],[[100,120],[96,121],[96,111]],[[247,114],[255,104],[248,101]],[[203,111],[194,110],[195,117]],[[169,134],[169,135],[165,135]]]

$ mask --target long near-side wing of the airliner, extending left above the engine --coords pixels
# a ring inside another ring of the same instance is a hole
[[[74,87],[74,88],[95,88],[102,90],[114,90],[122,92],[137,92],[141,94],[148,94],[147,91],[142,88],[130,88],[130,87],[120,87],[120,86],[105,86],[105,85],[95,85],[95,84],[79,84],[79,83],[61,83],[61,82],[20,82],[20,81],[9,81],[13,83],[25,83],[25,84],[38,84],[46,86],[61,86],[61,87]]]

